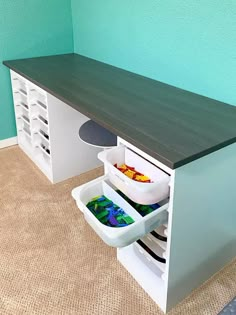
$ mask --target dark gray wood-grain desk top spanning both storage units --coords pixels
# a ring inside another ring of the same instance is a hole
[[[236,107],[77,55],[4,64],[174,169],[236,141]]]

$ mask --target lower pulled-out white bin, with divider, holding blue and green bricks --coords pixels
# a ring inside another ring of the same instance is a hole
[[[105,195],[112,200],[131,216],[135,222],[119,228],[102,224],[86,207],[87,203],[91,201],[92,198],[100,195]],[[110,246],[124,247],[130,245],[158,226],[166,223],[168,220],[168,212],[166,211],[169,206],[168,202],[161,205],[160,208],[152,213],[142,217],[113,189],[107,176],[99,177],[85,185],[75,188],[72,191],[72,196],[76,200],[78,207],[84,213],[86,221],[101,239]]]

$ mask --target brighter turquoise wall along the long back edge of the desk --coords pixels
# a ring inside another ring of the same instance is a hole
[[[75,52],[236,105],[235,0],[72,0]]]

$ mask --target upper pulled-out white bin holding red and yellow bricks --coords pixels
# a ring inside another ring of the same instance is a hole
[[[110,181],[131,200],[139,204],[154,204],[169,196],[170,176],[138,154],[121,145],[100,152],[98,158],[108,170]],[[148,176],[151,183],[134,181],[119,171],[114,165],[127,164]]]

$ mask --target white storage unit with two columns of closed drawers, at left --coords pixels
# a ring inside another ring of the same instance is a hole
[[[52,183],[101,165],[78,137],[87,117],[14,71],[11,81],[18,144]]]

